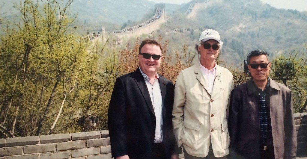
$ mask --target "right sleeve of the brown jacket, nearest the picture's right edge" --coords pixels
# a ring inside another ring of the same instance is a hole
[[[292,159],[296,157],[297,139],[296,130],[293,117],[292,93],[287,93],[286,101],[286,116],[284,123],[284,130],[286,135],[285,141],[285,159]]]

